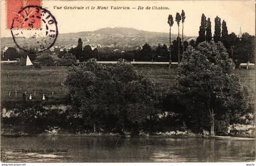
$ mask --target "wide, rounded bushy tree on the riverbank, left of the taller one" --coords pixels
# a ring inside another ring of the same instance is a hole
[[[69,68],[65,85],[74,113],[94,131],[136,134],[156,116],[154,86],[131,64],[105,66],[89,60]]]

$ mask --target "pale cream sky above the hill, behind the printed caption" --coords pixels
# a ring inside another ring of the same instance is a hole
[[[108,6],[108,10],[65,10],[65,6]],[[130,10],[110,10],[110,6],[126,6]],[[62,9],[54,9],[62,6]],[[168,7],[169,10],[138,10],[142,7]],[[135,7],[135,9],[132,9]],[[168,15],[185,11],[184,34],[198,36],[201,15],[205,14],[212,21],[218,15],[227,22],[229,33],[248,32],[255,35],[255,3],[248,1],[43,1],[43,8],[48,9],[58,22],[59,33],[83,32],[104,27],[132,27],[151,32],[169,32]],[[1,37],[10,36],[5,29],[5,2],[1,1]],[[174,20],[175,21],[175,20]],[[174,22],[172,33],[177,33]]]

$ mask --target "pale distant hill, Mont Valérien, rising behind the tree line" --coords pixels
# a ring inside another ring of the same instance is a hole
[[[127,27],[103,28],[94,31],[62,33],[59,34],[56,46],[67,44],[77,44],[77,40],[82,38],[84,46],[86,44],[101,44],[101,46],[111,46],[116,44],[119,46],[135,46],[148,43],[156,45],[158,43],[169,43],[169,33],[149,32]],[[176,39],[177,35],[172,34],[172,40]],[[191,40],[190,36],[184,36],[185,40]],[[12,38],[1,38],[2,46],[13,46]]]

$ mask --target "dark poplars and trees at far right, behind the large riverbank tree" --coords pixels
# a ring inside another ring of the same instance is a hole
[[[241,29],[240,29],[241,30]],[[199,36],[196,39],[196,45],[201,42],[219,41],[224,44],[229,57],[235,61],[236,65],[240,63],[246,63],[255,61],[255,36],[249,35],[249,33],[243,33],[236,35],[235,33],[229,33],[227,29],[227,22],[216,16],[215,18],[215,32],[212,35],[212,22],[210,18],[206,18],[204,13],[201,17],[201,26],[199,27]]]

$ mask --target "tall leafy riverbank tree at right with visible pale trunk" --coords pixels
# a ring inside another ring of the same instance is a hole
[[[233,66],[223,44],[212,42],[188,47],[180,63],[179,92],[187,118],[210,128],[211,136],[218,120],[230,123],[246,114],[247,89],[233,74]]]

